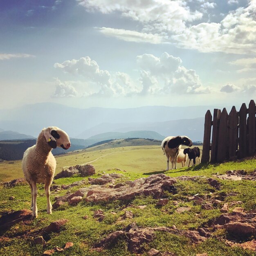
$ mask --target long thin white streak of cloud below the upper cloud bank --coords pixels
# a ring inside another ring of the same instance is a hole
[[[105,36],[116,37],[118,39],[128,42],[159,44],[163,41],[163,38],[161,36],[141,33],[132,30],[113,29],[110,27],[100,27],[97,29]]]

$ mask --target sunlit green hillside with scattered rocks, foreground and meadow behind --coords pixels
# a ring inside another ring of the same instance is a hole
[[[64,197],[52,215],[46,214],[44,188],[38,185],[38,219],[31,220],[29,211],[27,220],[16,220],[14,225],[7,217],[3,217],[4,223],[0,219],[0,255],[39,256],[70,242],[61,255],[148,256],[155,249],[159,256],[255,256],[256,159],[164,171],[166,161],[161,151],[158,146],[139,146],[57,157],[57,166],[96,159],[92,163],[96,173],[54,180],[52,203]],[[0,168],[5,165],[11,171],[15,164],[0,164]],[[221,175],[238,180],[223,180]],[[107,181],[106,177],[112,177],[112,182],[89,184],[96,178]],[[83,198],[72,204],[65,198],[76,191]],[[90,193],[87,196],[83,191]],[[29,209],[29,202],[27,184],[1,185],[0,215]],[[42,233],[60,219],[67,222],[58,232]],[[34,238],[42,234],[47,243],[35,244]]]

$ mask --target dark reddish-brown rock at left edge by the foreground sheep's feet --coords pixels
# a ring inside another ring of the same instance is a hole
[[[31,220],[31,218],[32,211],[27,209],[9,212],[5,215],[2,215],[0,218],[0,230],[9,229],[9,227],[13,226],[14,224],[25,220]]]

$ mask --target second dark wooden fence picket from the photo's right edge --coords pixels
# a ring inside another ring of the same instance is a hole
[[[246,117],[247,107],[245,103],[243,103],[239,110],[239,158],[246,157]]]

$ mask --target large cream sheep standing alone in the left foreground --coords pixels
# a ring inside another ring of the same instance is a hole
[[[52,213],[50,202],[50,186],[56,169],[56,160],[52,155],[52,149],[61,147],[65,150],[70,148],[70,138],[67,133],[55,126],[43,128],[38,135],[36,145],[27,148],[22,158],[22,170],[25,180],[31,188],[31,210],[32,217],[37,218],[37,188],[36,183],[45,184],[47,198],[47,213]]]

